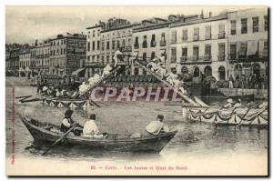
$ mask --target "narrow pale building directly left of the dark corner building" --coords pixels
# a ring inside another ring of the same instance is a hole
[[[35,45],[35,70],[41,74],[49,73],[50,40]]]

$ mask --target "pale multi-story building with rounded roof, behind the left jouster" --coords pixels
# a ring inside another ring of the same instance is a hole
[[[101,31],[100,62],[102,65],[113,65],[113,56],[117,49],[125,55],[124,62],[129,65],[129,57],[132,53],[132,25],[126,19],[111,18],[106,23],[106,29]],[[126,75],[130,74],[127,70]]]

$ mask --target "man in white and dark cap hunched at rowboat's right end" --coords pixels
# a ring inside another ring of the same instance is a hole
[[[159,133],[166,133],[169,131],[169,128],[164,125],[163,122],[163,115],[158,115],[157,116],[157,121],[152,121],[146,126],[146,131],[149,134],[152,135],[158,135]]]

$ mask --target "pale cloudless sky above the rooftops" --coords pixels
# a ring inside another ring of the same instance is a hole
[[[33,44],[35,39],[81,33],[99,20],[120,17],[131,23],[153,16],[200,15],[247,9],[249,6],[5,6],[5,43]]]

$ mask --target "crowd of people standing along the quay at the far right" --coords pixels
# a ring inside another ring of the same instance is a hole
[[[255,89],[267,89],[268,88],[268,76],[257,74],[241,75],[234,78],[229,76],[228,80],[229,88],[255,88]]]

